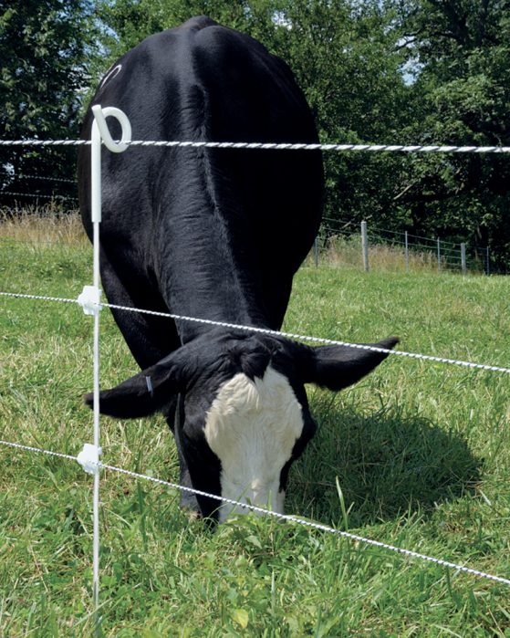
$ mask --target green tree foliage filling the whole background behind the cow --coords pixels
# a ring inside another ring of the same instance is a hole
[[[3,137],[75,136],[116,58],[208,15],[286,59],[322,141],[510,145],[508,0],[0,0],[0,9]],[[328,217],[488,245],[510,267],[506,156],[325,161]],[[9,162],[18,173],[36,162],[37,173],[70,170],[36,152]]]

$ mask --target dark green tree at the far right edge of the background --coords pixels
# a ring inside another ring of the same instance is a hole
[[[414,0],[398,5],[424,143],[510,145],[510,5]],[[498,155],[416,159],[399,200],[414,231],[490,246],[510,266],[510,164]],[[494,266],[494,264],[493,264]]]

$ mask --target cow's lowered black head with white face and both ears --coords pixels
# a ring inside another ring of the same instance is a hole
[[[390,349],[397,341],[374,345]],[[174,434],[193,486],[283,513],[288,470],[316,430],[305,384],[341,390],[386,356],[258,334],[208,333],[101,392],[99,409],[135,418],[177,405]],[[91,404],[92,396],[86,401]],[[233,509],[197,498],[203,515],[220,521]]]

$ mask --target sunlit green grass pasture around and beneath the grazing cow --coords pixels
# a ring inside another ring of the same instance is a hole
[[[0,289],[77,298],[91,249],[0,241]],[[303,267],[285,329],[401,338],[401,350],[510,365],[510,278]],[[0,298],[0,438],[77,455],[91,442],[92,320]],[[101,383],[136,371],[101,313]],[[510,578],[510,376],[390,357],[338,394],[309,387],[315,439],[287,511]],[[177,480],[160,417],[101,420],[103,460]],[[0,635],[86,636],[91,477],[0,446]],[[338,481],[338,486],[337,486]],[[510,636],[510,587],[270,518],[212,532],[162,486],[103,472],[102,632],[141,636]]]

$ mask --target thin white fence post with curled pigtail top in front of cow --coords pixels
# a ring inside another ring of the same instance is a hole
[[[88,446],[88,452],[95,458],[95,463],[99,463],[101,448],[99,446],[99,299],[101,290],[99,288],[99,224],[101,222],[101,141],[111,152],[124,152],[128,148],[128,141],[131,139],[131,126],[125,113],[114,107],[101,109],[99,105],[92,107],[94,121],[92,122],[92,148],[91,148],[91,216],[93,225],[93,246],[94,246],[94,286],[88,288],[88,294],[84,290],[82,293],[88,302],[88,307],[84,304],[84,310],[88,314],[94,315],[94,445]],[[121,141],[116,142],[111,139],[106,118],[112,116],[120,122],[122,128]],[[91,449],[90,449],[91,448]],[[85,451],[85,448],[84,448]],[[85,465],[84,465],[85,468]],[[88,470],[90,471],[90,470]],[[94,495],[93,495],[93,599],[96,612],[97,634],[99,628],[99,466],[96,465],[94,474]]]

